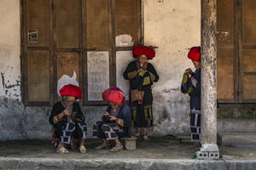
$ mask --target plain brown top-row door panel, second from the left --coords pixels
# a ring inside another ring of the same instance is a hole
[[[56,1],[56,47],[79,48],[78,0]]]

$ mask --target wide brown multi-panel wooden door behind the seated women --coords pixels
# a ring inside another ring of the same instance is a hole
[[[141,44],[140,0],[24,0],[21,3],[22,99],[53,105],[61,84],[78,83],[84,105],[102,105],[102,91]],[[132,11],[132,12],[131,12]],[[119,37],[131,37],[128,43]],[[132,57],[131,57],[132,59]],[[127,81],[126,81],[127,82]]]

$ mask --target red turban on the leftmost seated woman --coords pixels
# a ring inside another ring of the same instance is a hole
[[[73,84],[68,84],[61,88],[60,94],[61,96],[74,96],[78,99],[82,99],[82,89]]]

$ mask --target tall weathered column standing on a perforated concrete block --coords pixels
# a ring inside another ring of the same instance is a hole
[[[201,150],[199,159],[218,159],[217,145],[217,4],[201,0]]]

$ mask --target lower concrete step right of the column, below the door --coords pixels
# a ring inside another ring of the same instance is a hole
[[[256,147],[256,133],[218,133],[218,144]]]

